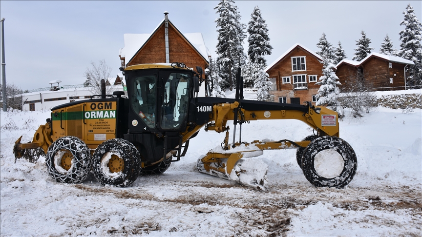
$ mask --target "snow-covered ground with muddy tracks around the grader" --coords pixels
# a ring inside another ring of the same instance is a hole
[[[343,189],[312,186],[290,149],[256,158],[269,165],[268,189],[259,191],[196,171],[197,158],[224,138],[203,130],[166,173],[127,188],[104,187],[93,174],[82,184],[56,183],[44,158],[15,164],[12,153],[16,139],[31,140],[50,112],[1,112],[0,235],[421,236],[421,115],[378,107],[340,121],[340,137],[358,157]],[[300,121],[251,121],[242,141],[311,134]]]

